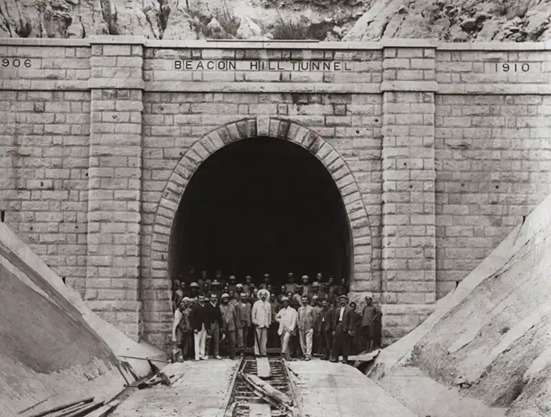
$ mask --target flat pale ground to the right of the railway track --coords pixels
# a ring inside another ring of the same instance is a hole
[[[302,417],[417,417],[349,365],[311,360],[289,369]]]

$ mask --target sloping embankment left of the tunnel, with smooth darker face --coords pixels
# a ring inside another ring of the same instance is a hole
[[[101,320],[30,248],[0,223],[0,415],[75,398],[110,400],[134,382],[117,354],[158,357]],[[136,376],[145,361],[127,360]],[[23,414],[24,416],[25,414]]]

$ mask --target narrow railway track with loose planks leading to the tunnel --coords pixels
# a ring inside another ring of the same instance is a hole
[[[289,380],[287,367],[285,367],[282,358],[269,357],[267,360],[270,366],[270,374],[268,377],[263,377],[262,380],[293,398],[291,381]],[[258,375],[257,361],[254,356],[245,356],[241,361],[238,375],[233,385],[229,405],[224,415],[225,417],[253,417],[250,414],[251,403],[267,404],[266,401],[254,391],[251,385],[247,383],[243,374]],[[284,407],[278,407],[272,404],[269,408],[270,414],[267,414],[267,416],[270,417],[287,417],[292,415],[289,413],[289,410]],[[255,416],[257,415],[258,414]]]

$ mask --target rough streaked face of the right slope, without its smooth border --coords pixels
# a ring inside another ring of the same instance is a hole
[[[413,349],[413,364],[510,417],[551,415],[551,196],[511,256]],[[468,278],[466,278],[468,279]]]

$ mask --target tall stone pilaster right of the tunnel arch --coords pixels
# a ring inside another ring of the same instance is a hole
[[[424,320],[424,305],[436,301],[435,50],[385,48],[383,66],[382,299],[388,343]]]

